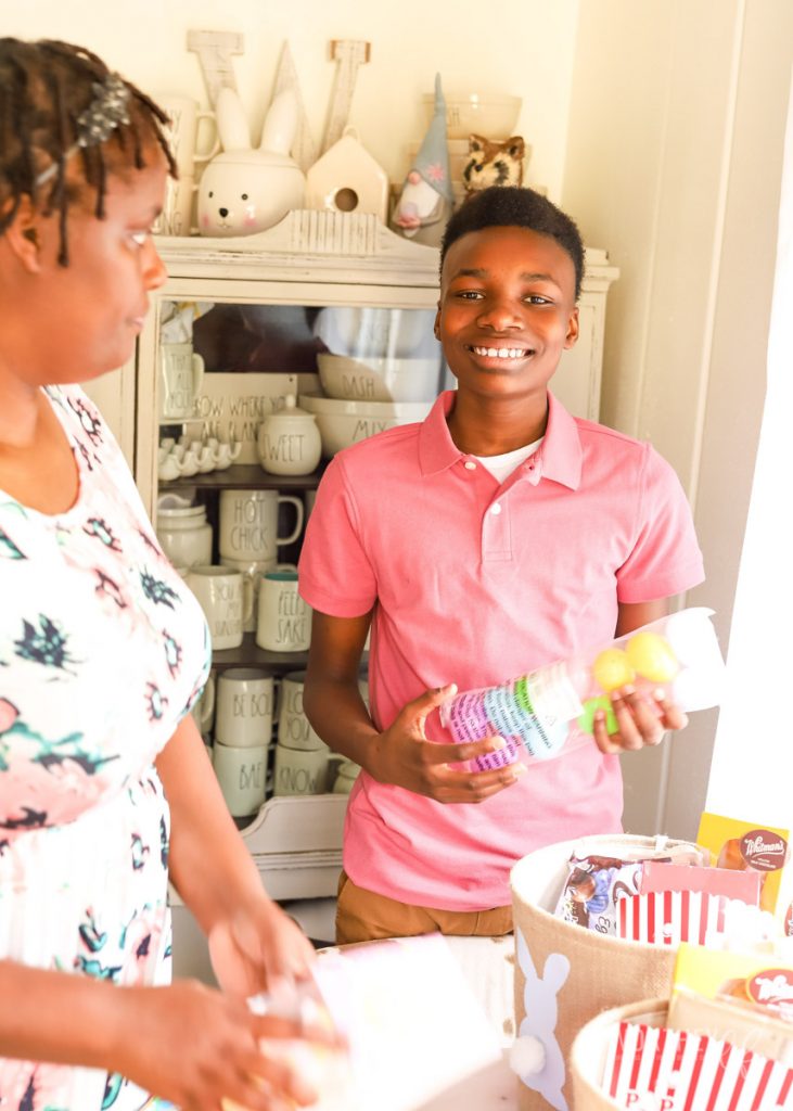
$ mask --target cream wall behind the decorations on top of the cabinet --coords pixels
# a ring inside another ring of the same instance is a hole
[[[350,123],[370,153],[401,181],[406,146],[423,138],[422,93],[439,71],[446,91],[488,90],[523,98],[518,133],[533,147],[529,182],[559,197],[578,0],[24,0],[4,4],[2,33],[63,38],[99,53],[147,92],[180,92],[208,103],[189,29],[240,31],[234,73],[258,139],[283,43],[289,40],[305,112],[321,140],[337,63],[331,39],[363,39]],[[598,246],[598,244],[593,244]]]

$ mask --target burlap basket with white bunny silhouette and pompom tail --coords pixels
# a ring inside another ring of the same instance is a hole
[[[666,845],[695,851],[684,841],[669,840]],[[654,838],[579,838],[539,849],[512,869],[515,1032],[533,1034],[545,1050],[542,1072],[518,1081],[520,1111],[566,1111],[573,1105],[570,1050],[590,1019],[608,1008],[669,997],[675,948],[621,941],[553,915],[573,852],[635,857],[655,850]]]

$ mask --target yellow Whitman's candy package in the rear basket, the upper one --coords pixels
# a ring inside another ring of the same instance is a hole
[[[760,905],[771,911],[793,937],[793,864],[791,831],[705,812],[696,841],[709,849],[716,868],[760,877]]]

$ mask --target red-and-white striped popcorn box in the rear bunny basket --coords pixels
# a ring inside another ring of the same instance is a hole
[[[616,903],[616,935],[623,941],[704,945],[709,934],[724,932],[729,900],[700,891],[650,891]]]

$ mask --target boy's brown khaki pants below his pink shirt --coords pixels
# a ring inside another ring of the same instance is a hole
[[[435,932],[464,938],[501,937],[512,932],[512,907],[493,907],[481,911],[411,907],[359,888],[342,871],[339,877],[335,914],[338,945],[373,941],[375,938],[413,938],[420,933]]]

